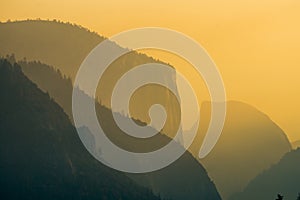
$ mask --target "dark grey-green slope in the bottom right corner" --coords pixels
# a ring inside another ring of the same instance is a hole
[[[300,149],[287,153],[278,164],[253,179],[231,200],[275,199],[280,193],[293,200],[300,192]]]

